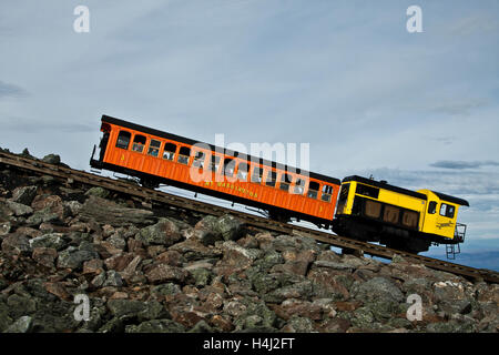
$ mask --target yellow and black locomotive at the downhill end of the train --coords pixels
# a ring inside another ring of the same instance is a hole
[[[457,223],[461,205],[469,203],[354,175],[342,181],[333,231],[411,253],[425,252],[431,243],[447,244],[447,256],[454,257],[466,234],[466,225]]]

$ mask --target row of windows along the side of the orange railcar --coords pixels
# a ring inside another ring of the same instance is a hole
[[[131,140],[131,133],[128,131],[120,131],[120,134],[118,135],[116,146],[121,149],[129,149],[130,140]],[[132,143],[132,151],[138,153],[143,153],[144,148],[146,143],[146,138],[141,134],[135,134]],[[162,142],[151,139],[147,154],[154,158],[160,156],[160,150],[161,150]],[[174,161],[175,153],[176,153],[176,144],[171,142],[165,142],[164,150],[163,150],[163,159]],[[189,164],[189,158],[191,155],[191,149],[185,145],[180,145],[179,154],[176,158],[176,161],[181,164]],[[205,160],[206,156],[203,152],[197,151],[194,154],[193,159],[193,166],[205,169]],[[222,158],[218,155],[212,155],[211,161],[208,162],[207,169],[213,172],[218,172],[218,168],[221,166]],[[234,173],[236,172],[236,163],[237,161],[235,159],[225,158],[223,162],[223,171],[222,174],[233,178]],[[241,181],[247,181],[249,166],[247,163],[240,162],[237,166],[236,178]],[[262,184],[263,182],[263,175],[264,175],[264,169],[259,166],[253,168],[253,173],[251,174],[251,182]],[[267,171],[267,179],[265,181],[265,185],[271,187],[277,187],[277,172],[268,170]],[[289,186],[293,182],[293,176],[286,173],[281,173],[281,176],[278,179],[278,189],[282,191],[289,192]],[[295,185],[293,192],[295,194],[303,194],[305,191],[306,181],[304,179],[296,178]],[[320,190],[320,184],[315,181],[310,181],[307,190],[307,197],[310,199],[317,199],[318,191]],[[325,202],[330,202],[330,197],[333,194],[333,186],[330,185],[323,185],[322,189],[322,195],[320,200]]]

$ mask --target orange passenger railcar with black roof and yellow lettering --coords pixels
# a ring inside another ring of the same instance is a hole
[[[340,181],[227,151],[108,115],[100,156],[90,165],[255,206],[272,217],[297,217],[328,226]]]

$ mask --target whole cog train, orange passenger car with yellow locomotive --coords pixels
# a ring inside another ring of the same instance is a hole
[[[465,240],[466,225],[457,223],[459,207],[469,206],[462,199],[357,175],[339,181],[108,115],[101,121],[90,165],[147,187],[164,183],[416,254],[446,244],[454,257]]]

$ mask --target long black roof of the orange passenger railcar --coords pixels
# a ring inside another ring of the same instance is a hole
[[[329,182],[336,185],[340,184],[340,180],[336,179],[336,178],[330,178],[330,176],[326,176],[323,174],[318,174],[318,173],[314,173],[314,172],[309,172],[303,169],[298,169],[298,168],[294,168],[294,166],[289,166],[289,165],[285,165],[285,164],[281,164],[277,162],[273,162],[263,158],[256,158],[256,156],[252,156],[249,154],[243,154],[236,151],[232,151],[232,150],[227,150],[225,148],[221,148],[221,146],[216,146],[213,144],[208,144],[208,143],[204,143],[204,142],[200,142],[200,141],[195,141],[182,135],[176,135],[173,133],[169,133],[169,132],[164,132],[164,131],[160,131],[160,130],[155,130],[155,129],[151,129],[149,126],[144,126],[144,125],[140,125],[136,123],[132,123],[129,121],[124,121],[121,119],[116,119],[116,118],[112,118],[110,115],[103,114],[102,122],[108,122],[108,123],[112,123],[115,125],[120,125],[123,128],[129,128],[131,130],[135,130],[135,131],[140,131],[140,132],[144,132],[144,133],[149,133],[152,135],[156,135],[156,136],[161,136],[167,140],[172,140],[172,141],[176,141],[176,142],[182,142],[189,145],[194,145],[196,143],[203,143],[206,144],[207,146],[210,146],[210,149],[212,150],[212,152],[224,152],[224,154],[226,155],[231,155],[231,156],[235,156],[235,158],[240,158],[240,159],[246,159],[248,162],[254,161],[254,162],[258,162],[259,164],[266,165],[266,166],[271,166],[271,168],[275,168],[275,169],[279,169],[279,170],[285,170],[285,171],[289,171],[289,172],[296,172],[297,174],[303,174],[303,175],[307,175],[310,176],[312,179],[316,179],[316,180],[322,180],[325,182]]]

